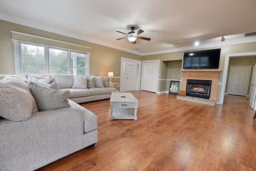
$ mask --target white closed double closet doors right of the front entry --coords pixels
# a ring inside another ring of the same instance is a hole
[[[159,62],[142,62],[142,90],[156,92]]]

